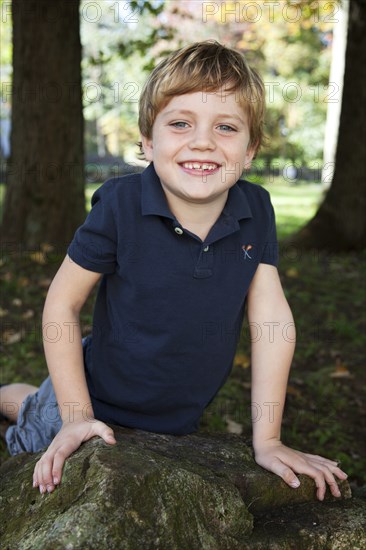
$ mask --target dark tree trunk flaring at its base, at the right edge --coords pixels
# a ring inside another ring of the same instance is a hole
[[[365,12],[363,0],[351,0],[335,172],[315,217],[291,238],[302,248],[340,252],[366,246]]]

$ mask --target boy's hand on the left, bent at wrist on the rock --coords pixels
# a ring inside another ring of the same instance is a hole
[[[61,430],[37,462],[33,473],[33,487],[39,487],[41,494],[51,493],[61,481],[65,460],[80,447],[84,441],[99,435],[106,443],[116,443],[113,430],[99,420],[76,419],[64,422]]]

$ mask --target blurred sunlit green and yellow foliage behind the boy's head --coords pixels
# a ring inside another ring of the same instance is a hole
[[[201,1],[82,0],[84,115],[98,121],[96,134],[88,126],[87,152],[100,150],[101,142],[106,152],[132,150],[138,140],[137,101],[147,73],[172,49],[215,37],[243,51],[264,76],[269,144],[262,158],[287,157],[304,164],[322,158],[338,4],[286,0],[274,3],[272,12],[270,3],[259,3],[259,19],[244,1],[213,4],[215,15],[203,19]],[[239,19],[225,15],[233,6]],[[2,22],[0,45],[1,64],[9,66],[9,15]],[[112,134],[118,134],[118,144],[110,147]]]

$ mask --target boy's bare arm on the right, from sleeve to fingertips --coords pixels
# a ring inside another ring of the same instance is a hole
[[[326,458],[292,450],[281,443],[286,386],[295,349],[295,325],[277,269],[259,264],[248,292],[248,320],[252,338],[253,447],[256,462],[298,487],[296,473],[315,480],[323,500],[326,484],[340,496],[334,475],[347,475]]]

